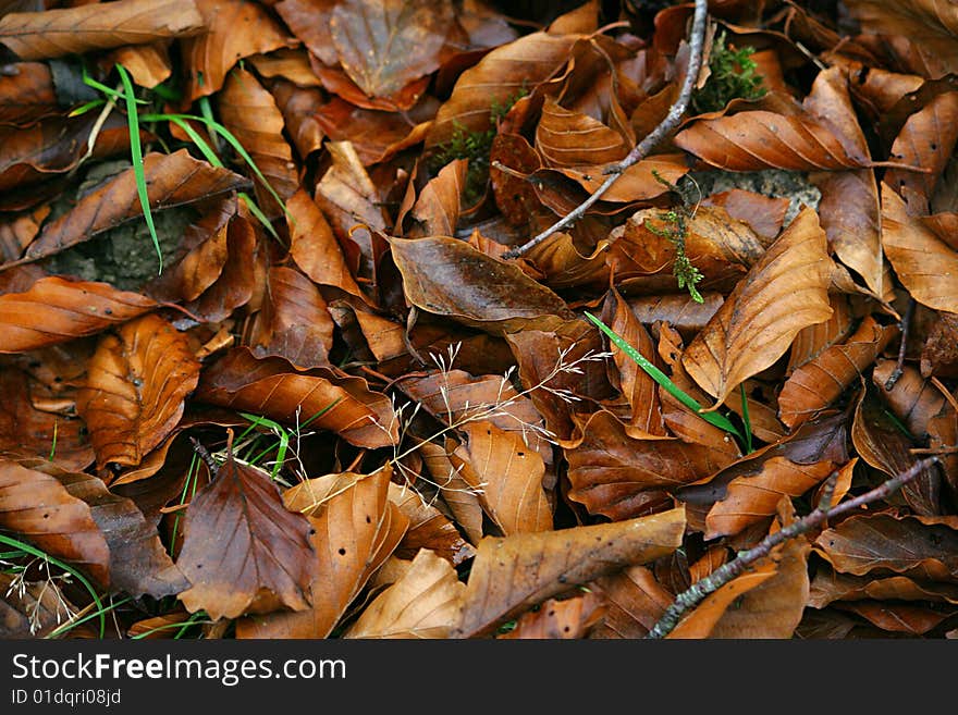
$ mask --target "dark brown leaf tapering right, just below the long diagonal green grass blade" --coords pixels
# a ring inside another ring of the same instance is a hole
[[[568,497],[590,514],[615,520],[641,513],[646,506],[642,492],[678,489],[718,471],[738,456],[734,444],[720,452],[676,439],[632,439],[605,410],[589,416],[581,432],[581,443],[565,449]]]

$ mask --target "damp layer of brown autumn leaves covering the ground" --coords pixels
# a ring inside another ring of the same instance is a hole
[[[958,7],[508,4],[7,3],[0,634],[958,634]]]

